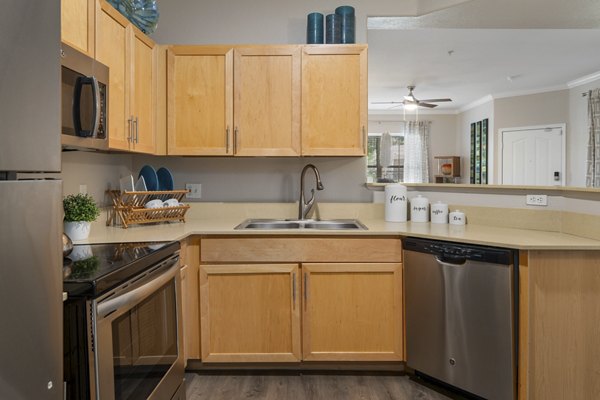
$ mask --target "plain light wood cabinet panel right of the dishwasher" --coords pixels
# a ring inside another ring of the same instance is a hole
[[[526,262],[519,399],[600,398],[600,251],[529,251]]]

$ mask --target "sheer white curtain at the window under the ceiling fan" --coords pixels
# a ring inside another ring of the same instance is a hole
[[[430,121],[404,122],[404,182],[429,182]]]

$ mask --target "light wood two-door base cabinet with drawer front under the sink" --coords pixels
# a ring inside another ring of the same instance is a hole
[[[401,251],[395,237],[202,239],[202,360],[401,361]]]

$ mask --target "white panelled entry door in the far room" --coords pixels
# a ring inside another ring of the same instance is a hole
[[[500,132],[504,185],[564,184],[562,126],[506,129]]]

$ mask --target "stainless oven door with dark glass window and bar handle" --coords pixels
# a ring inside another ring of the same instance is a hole
[[[178,261],[173,256],[93,302],[97,399],[170,399],[183,382]]]

